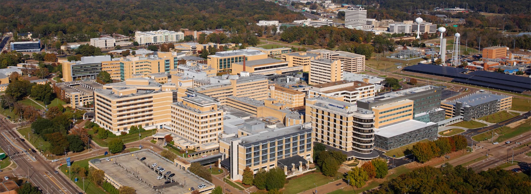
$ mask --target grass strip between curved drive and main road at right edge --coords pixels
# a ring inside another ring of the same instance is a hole
[[[518,125],[518,126],[516,126],[514,128],[503,126],[503,127],[496,128],[495,130],[492,130],[492,131],[489,131],[489,132],[485,132],[485,133],[481,133],[481,134],[475,135],[475,136],[472,137],[472,139],[474,141],[489,140],[492,137],[492,132],[494,132],[494,133],[497,133],[497,134],[501,134],[494,141],[495,142],[503,142],[503,141],[505,141],[505,140],[507,140],[509,138],[516,137],[516,136],[518,136],[518,135],[520,135],[522,133],[528,132],[529,128],[531,128],[531,123],[529,123],[529,122],[520,124],[520,125]]]

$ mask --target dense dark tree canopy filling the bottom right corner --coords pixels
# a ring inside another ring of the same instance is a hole
[[[529,193],[528,175],[489,169],[476,173],[458,165],[423,167],[388,180],[372,193]]]

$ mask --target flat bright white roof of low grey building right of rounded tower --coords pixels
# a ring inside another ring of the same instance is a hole
[[[412,132],[426,126],[437,125],[436,123],[424,123],[416,120],[409,120],[395,125],[374,129],[375,135],[383,137],[394,137],[407,132]]]

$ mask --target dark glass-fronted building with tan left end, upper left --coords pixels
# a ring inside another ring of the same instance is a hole
[[[102,61],[110,61],[110,56],[81,57],[80,61],[63,62],[63,81],[96,79]]]

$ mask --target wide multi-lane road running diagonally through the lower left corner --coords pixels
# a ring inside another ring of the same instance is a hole
[[[19,134],[13,130],[14,126],[5,118],[0,118],[0,147],[18,165],[13,171],[2,172],[2,176],[29,177],[45,193],[79,193],[81,189],[63,177],[63,173],[54,173],[56,169],[44,157],[31,152],[28,141],[20,140]]]

